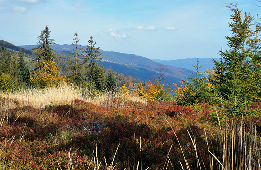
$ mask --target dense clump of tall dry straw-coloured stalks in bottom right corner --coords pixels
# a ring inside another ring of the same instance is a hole
[[[256,134],[256,128],[252,127],[251,131],[246,132],[243,128],[243,115],[239,125],[235,125],[233,121],[228,124],[226,117],[222,129],[219,119],[218,122],[217,140],[221,153],[219,157],[210,150],[209,153],[212,159],[218,162],[219,169],[260,170],[261,144],[260,137]]]

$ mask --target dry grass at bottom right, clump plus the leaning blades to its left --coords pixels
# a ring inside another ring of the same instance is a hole
[[[217,114],[217,113],[216,113]],[[167,119],[165,119],[167,121]],[[258,137],[256,135],[256,129],[252,128],[252,132],[246,133],[243,130],[243,116],[241,120],[241,124],[239,125],[239,128],[237,128],[233,122],[231,125],[228,125],[227,121],[225,121],[225,124],[222,125],[220,120],[218,119],[219,122],[219,129],[217,130],[216,133],[216,140],[220,144],[220,154],[216,155],[213,153],[213,151],[210,151],[210,148],[212,147],[209,145],[211,142],[208,140],[207,133],[205,131],[205,137],[206,137],[206,144],[208,146],[208,152],[209,152],[209,165],[210,169],[223,169],[223,170],[228,170],[228,169],[247,169],[247,170],[261,170],[261,165],[260,165],[260,158],[261,158],[261,145],[260,141],[257,142]],[[167,121],[169,126],[172,128],[170,123]],[[222,128],[222,126],[224,126]],[[172,128],[173,133],[176,136],[175,131]],[[194,138],[193,133],[190,133],[187,130],[191,142],[193,144],[194,150],[196,152],[196,158],[197,158],[197,169],[203,169],[202,163],[200,162],[199,159],[199,154],[198,153],[198,146],[196,143],[196,140]],[[177,140],[178,137],[176,136]],[[179,142],[179,140],[178,140]],[[180,145],[180,149],[183,153],[182,146]],[[182,169],[190,169],[190,166],[187,163],[186,157],[183,153],[183,158],[185,160],[185,166],[183,167],[182,163],[181,167]],[[189,157],[187,157],[189,159]],[[203,164],[203,166],[205,166]],[[216,166],[214,168],[214,166]]]

